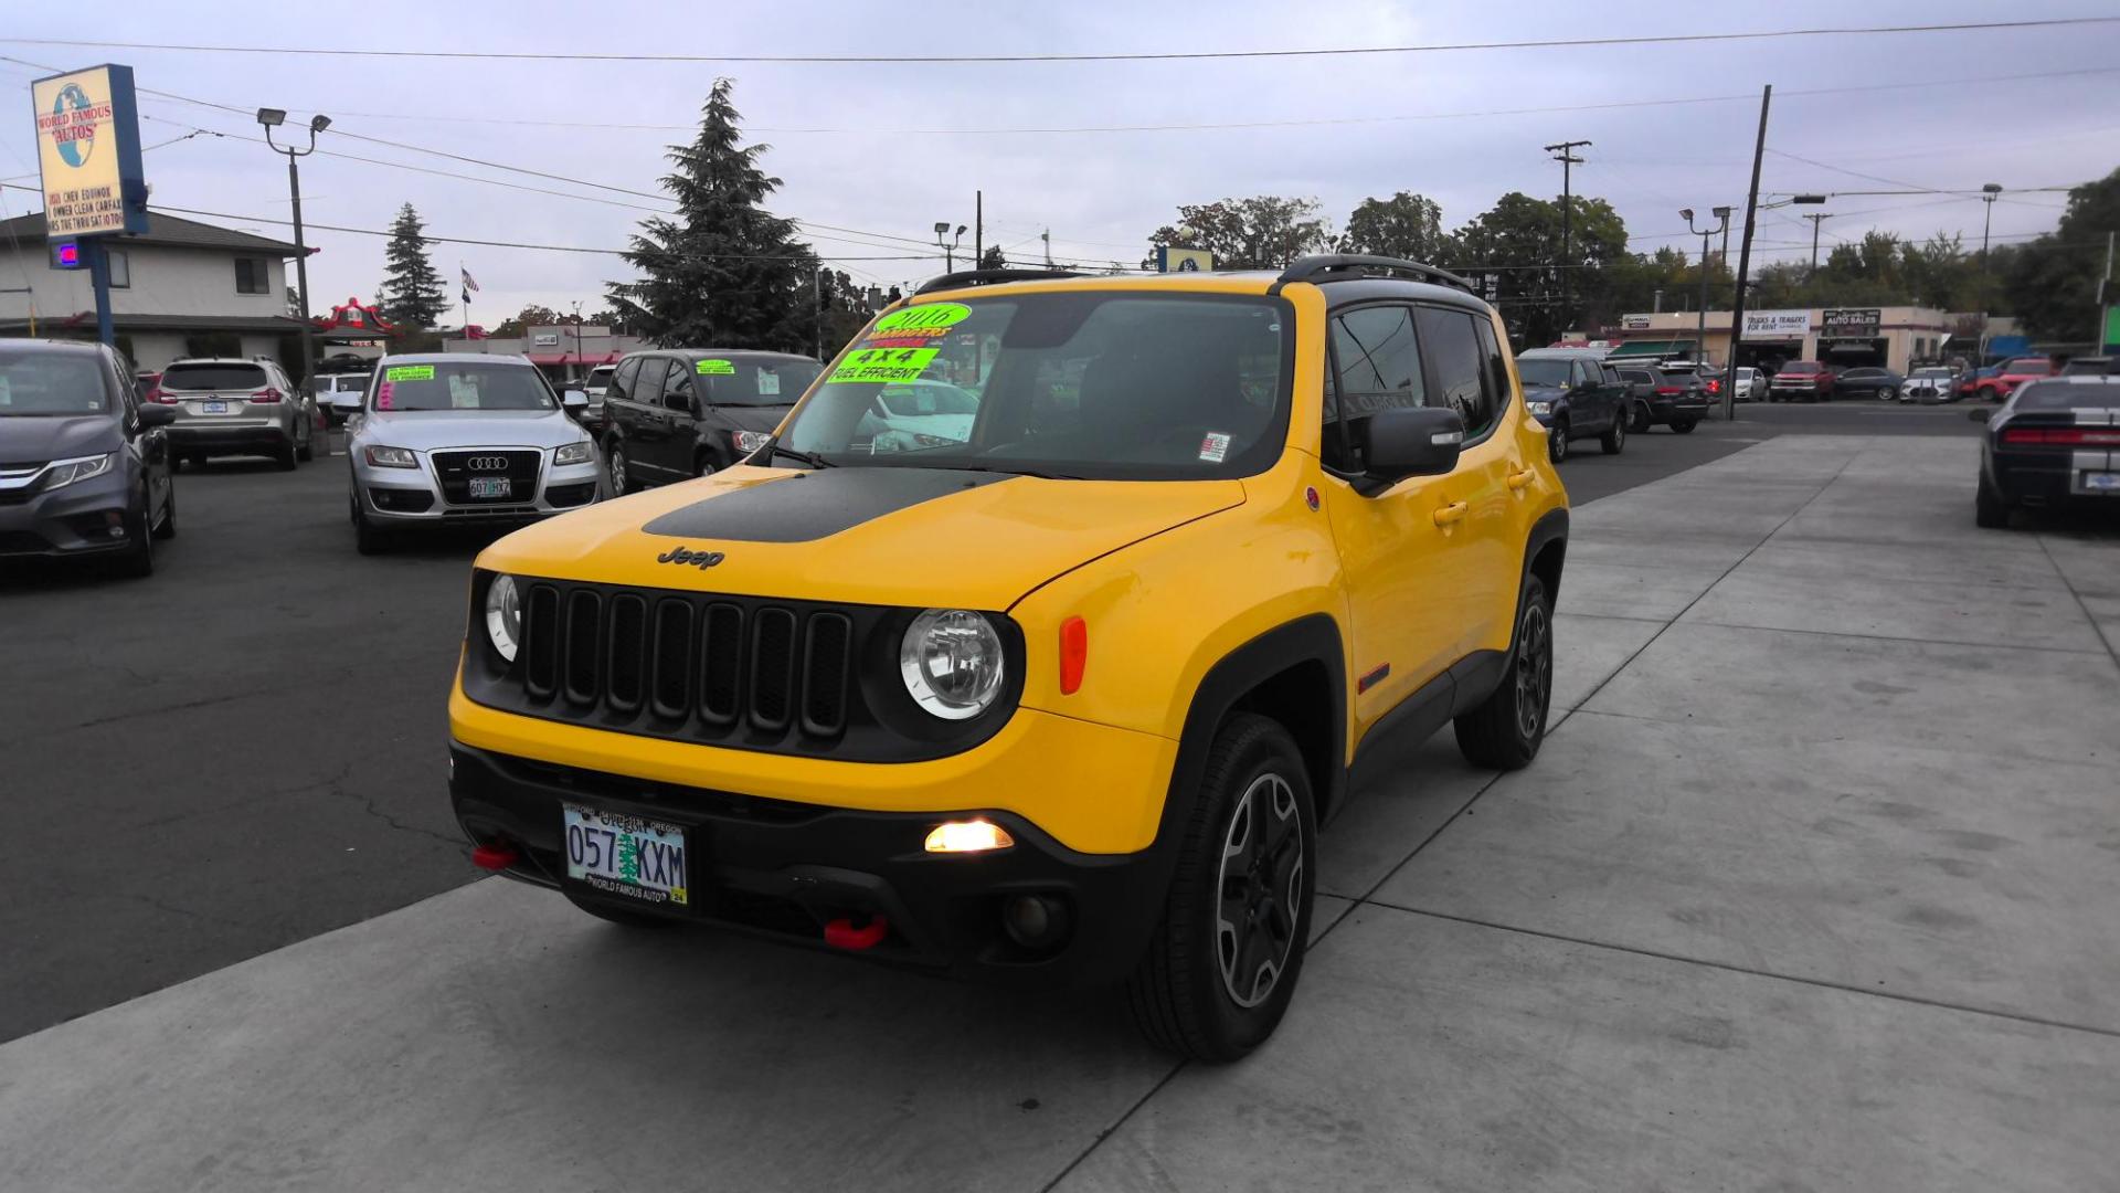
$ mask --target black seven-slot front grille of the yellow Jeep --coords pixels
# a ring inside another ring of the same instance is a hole
[[[918,609],[528,580],[513,662],[485,645],[473,590],[464,694],[496,709],[642,737],[878,762],[986,741],[1015,709],[1022,637],[996,618],[1007,684],[988,713],[912,703],[899,641]]]

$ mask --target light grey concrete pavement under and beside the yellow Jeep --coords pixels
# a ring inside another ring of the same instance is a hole
[[[2120,537],[1974,452],[1582,507],[1545,754],[1361,792],[1240,1066],[483,881],[0,1044],[0,1187],[2112,1187]]]

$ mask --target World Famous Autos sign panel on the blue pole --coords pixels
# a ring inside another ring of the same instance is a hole
[[[131,66],[89,66],[30,83],[49,236],[146,231]]]

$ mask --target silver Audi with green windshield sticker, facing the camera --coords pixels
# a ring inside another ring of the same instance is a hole
[[[441,524],[519,524],[600,497],[596,444],[524,357],[384,357],[348,420],[348,503],[360,554]]]

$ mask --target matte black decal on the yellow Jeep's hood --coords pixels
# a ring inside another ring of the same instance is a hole
[[[808,543],[967,488],[1011,480],[1001,473],[831,467],[755,484],[672,509],[649,535],[736,543]]]

